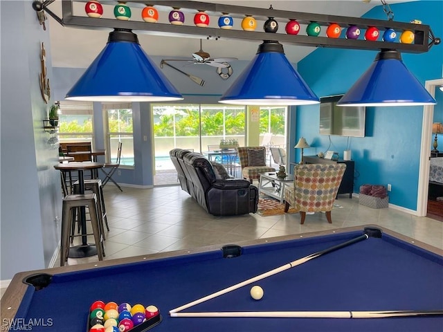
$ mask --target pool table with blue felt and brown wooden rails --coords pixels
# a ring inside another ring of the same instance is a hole
[[[381,237],[357,241],[253,283],[264,290],[260,300],[251,298],[250,284],[181,312],[442,311],[443,250],[381,231]],[[231,252],[237,257],[223,257],[220,247],[211,246],[18,273],[1,299],[1,329],[15,318],[16,324],[37,322],[32,331],[86,331],[89,306],[101,299],[154,304],[162,321],[150,331],[159,332],[441,332],[442,315],[358,319],[170,316],[173,308],[362,234],[363,227],[354,227],[237,243],[241,255]],[[38,290],[22,282],[36,274],[49,275],[48,283],[37,286]]]

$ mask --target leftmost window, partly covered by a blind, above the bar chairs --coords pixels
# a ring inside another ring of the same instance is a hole
[[[92,102],[60,101],[58,138],[63,142],[91,142],[93,144]]]

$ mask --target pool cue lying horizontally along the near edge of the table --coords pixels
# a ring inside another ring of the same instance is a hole
[[[172,313],[171,317],[263,317],[263,318],[386,318],[443,315],[436,311],[237,311],[215,313]]]

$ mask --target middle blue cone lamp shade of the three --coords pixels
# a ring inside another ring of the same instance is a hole
[[[306,105],[320,100],[284,55],[278,42],[264,41],[237,80],[221,96],[223,104]]]

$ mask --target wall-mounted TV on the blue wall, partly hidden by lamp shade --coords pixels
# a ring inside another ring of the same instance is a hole
[[[365,107],[340,107],[342,95],[320,98],[320,134],[365,137]]]

